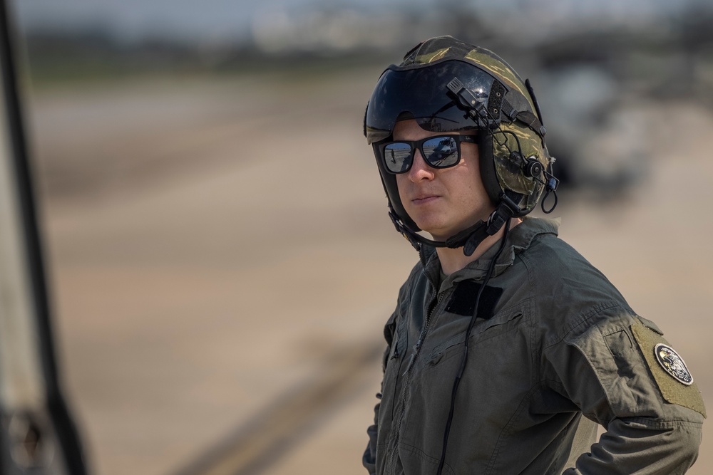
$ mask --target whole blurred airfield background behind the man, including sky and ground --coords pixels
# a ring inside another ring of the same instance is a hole
[[[418,259],[362,135],[451,34],[533,82],[560,236],[713,407],[713,4],[14,0],[63,387],[93,473],[361,474]],[[689,472],[713,467],[713,429]]]

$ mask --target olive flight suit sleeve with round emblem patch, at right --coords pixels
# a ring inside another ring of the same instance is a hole
[[[563,474],[684,474],[702,439],[701,394],[655,324],[606,313],[546,351],[565,395],[606,429]]]

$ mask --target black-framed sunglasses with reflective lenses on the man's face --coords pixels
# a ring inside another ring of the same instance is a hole
[[[406,173],[414,164],[414,150],[421,152],[429,166],[448,168],[461,161],[461,142],[476,143],[475,135],[438,135],[421,140],[398,140],[379,145],[381,160],[389,172]]]

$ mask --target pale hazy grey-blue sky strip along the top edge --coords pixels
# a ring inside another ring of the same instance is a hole
[[[80,28],[93,26],[123,41],[145,36],[171,36],[189,41],[245,38],[252,34],[256,17],[274,11],[290,15],[319,9],[394,11],[431,9],[445,11],[448,5],[486,7],[522,12],[523,18],[581,18],[610,15],[635,19],[652,11],[672,11],[684,4],[709,0],[11,0],[24,28]]]

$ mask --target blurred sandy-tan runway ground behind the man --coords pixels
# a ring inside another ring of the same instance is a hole
[[[361,135],[379,71],[31,97],[61,367],[97,474],[364,473],[381,328],[418,259]],[[650,177],[555,214],[712,409],[713,117],[641,108]]]

